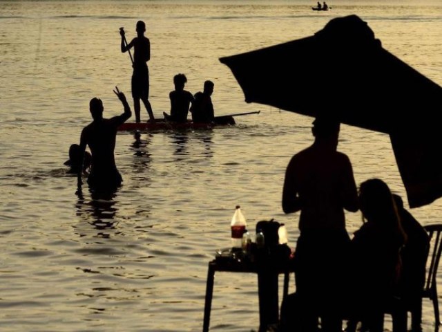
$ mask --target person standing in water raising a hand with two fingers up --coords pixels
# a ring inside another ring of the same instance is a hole
[[[88,145],[92,153],[92,165],[88,176],[88,185],[95,191],[112,191],[122,183],[122,176],[115,165],[115,141],[117,138],[117,127],[131,117],[131,108],[126,101],[124,93],[117,87],[113,92],[121,100],[124,113],[110,119],[103,118],[103,102],[98,98],[92,98],[89,102],[90,114],[93,122],[90,122],[81,131],[80,156],[83,156]],[[78,172],[78,190],[81,192],[81,171]]]

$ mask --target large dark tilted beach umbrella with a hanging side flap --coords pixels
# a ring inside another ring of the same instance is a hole
[[[356,15],[220,62],[246,102],[388,133],[411,208],[442,196],[442,88],[385,50]]]

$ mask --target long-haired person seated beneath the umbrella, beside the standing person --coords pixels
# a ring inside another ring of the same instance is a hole
[[[359,188],[359,206],[364,224],[354,233],[349,266],[349,324],[355,331],[362,322],[370,332],[383,332],[384,314],[399,295],[401,250],[407,241],[401,219],[388,185],[378,178]],[[353,284],[352,284],[353,283]],[[393,331],[406,332],[404,320],[392,312]]]

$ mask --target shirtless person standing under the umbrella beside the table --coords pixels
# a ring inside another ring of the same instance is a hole
[[[344,209],[358,210],[352,164],[337,151],[340,123],[318,116],[313,122],[313,145],[295,154],[287,166],[282,210],[300,211],[296,243],[296,293],[302,305],[302,332],[338,332],[342,318],[338,299],[343,289],[349,235]]]

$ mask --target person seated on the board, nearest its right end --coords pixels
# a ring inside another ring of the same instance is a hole
[[[214,85],[212,81],[207,80],[204,82],[204,90],[195,93],[195,101],[190,109],[193,122],[210,123],[215,121],[215,112],[213,111],[211,98]]]

